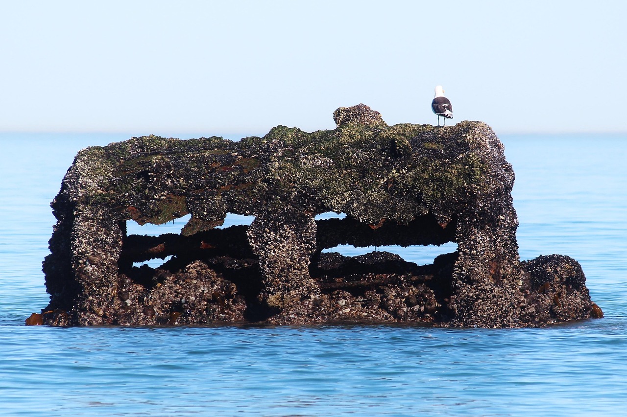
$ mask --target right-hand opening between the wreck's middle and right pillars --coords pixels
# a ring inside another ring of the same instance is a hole
[[[426,284],[441,298],[448,294],[448,283],[435,283],[433,278],[450,275],[443,270],[456,257],[455,221],[442,227],[435,216],[425,215],[408,225],[387,220],[373,226],[342,214],[325,214],[316,223],[318,251],[310,275],[323,291],[342,289],[363,296],[374,287],[406,282]]]

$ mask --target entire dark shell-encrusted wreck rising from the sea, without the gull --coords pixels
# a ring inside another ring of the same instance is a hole
[[[76,155],[52,203],[50,305],[30,324],[418,322],[519,327],[601,317],[575,260],[520,262],[514,172],[489,126],[388,126],[364,105],[337,128],[263,137],[145,136]],[[227,212],[248,226],[214,229]],[[315,220],[325,212],[344,219]],[[126,233],[191,214],[180,235]],[[430,265],[339,244],[440,245]],[[158,269],[133,262],[172,255]]]

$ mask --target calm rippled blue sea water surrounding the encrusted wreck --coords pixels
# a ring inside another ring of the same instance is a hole
[[[48,302],[41,260],[66,169],[80,148],[130,136],[0,135],[0,415],[627,415],[627,135],[500,136],[521,258],[579,260],[604,319],[500,330],[24,326]],[[408,260],[454,250],[387,249]]]

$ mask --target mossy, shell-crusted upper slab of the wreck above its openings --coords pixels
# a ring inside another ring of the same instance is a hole
[[[87,148],[75,160],[83,185],[75,200],[140,223],[191,212],[194,230],[220,224],[226,212],[284,210],[408,224],[428,212],[447,222],[494,185],[485,141],[493,133],[483,123],[388,126],[363,105],[335,116],[334,130],[277,126],[240,142],[143,136]]]

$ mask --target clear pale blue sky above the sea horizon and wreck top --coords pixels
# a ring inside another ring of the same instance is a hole
[[[627,131],[625,1],[0,1],[0,131]]]

